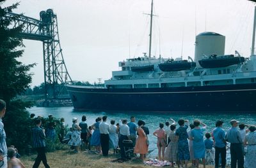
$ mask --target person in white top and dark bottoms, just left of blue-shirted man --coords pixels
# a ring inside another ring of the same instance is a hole
[[[127,125],[127,120],[123,120],[122,123],[123,124],[120,126],[120,150],[122,159],[126,159],[123,141],[129,139],[130,131]]]

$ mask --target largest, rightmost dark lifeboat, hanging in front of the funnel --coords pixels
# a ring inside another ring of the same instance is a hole
[[[207,59],[198,60],[200,66],[204,68],[227,67],[244,61],[244,57],[234,57],[234,55],[210,55]]]

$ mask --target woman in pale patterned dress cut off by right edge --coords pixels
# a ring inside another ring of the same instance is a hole
[[[256,127],[251,125],[250,132],[246,134],[244,139],[244,146],[247,146],[247,152],[245,154],[244,168],[255,167],[256,160]]]

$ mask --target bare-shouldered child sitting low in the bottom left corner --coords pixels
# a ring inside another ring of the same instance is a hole
[[[16,158],[16,151],[14,148],[8,148],[8,157],[10,160],[8,160],[8,168],[25,168],[24,164],[20,162],[19,158]]]

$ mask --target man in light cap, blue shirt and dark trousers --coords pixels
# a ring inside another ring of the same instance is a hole
[[[231,120],[232,127],[228,129],[226,139],[230,143],[230,155],[231,155],[231,168],[243,168],[244,155],[243,155],[243,139],[239,130],[237,130],[237,120]]]

